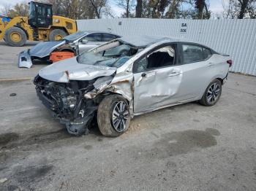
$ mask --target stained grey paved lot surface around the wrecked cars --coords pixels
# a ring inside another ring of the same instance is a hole
[[[256,190],[255,77],[230,74],[216,106],[144,114],[115,139],[97,127],[75,137],[27,79],[43,65],[18,69],[27,48],[0,42],[0,190]],[[2,80],[14,78],[26,80]]]

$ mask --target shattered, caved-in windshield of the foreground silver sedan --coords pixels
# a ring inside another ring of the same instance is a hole
[[[78,63],[118,68],[137,52],[137,47],[131,47],[129,44],[114,41],[89,52],[83,52],[78,56]]]

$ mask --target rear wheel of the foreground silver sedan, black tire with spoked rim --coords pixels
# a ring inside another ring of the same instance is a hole
[[[219,97],[222,94],[222,82],[219,79],[214,79],[206,88],[203,97],[199,101],[204,106],[213,106],[219,101]]]

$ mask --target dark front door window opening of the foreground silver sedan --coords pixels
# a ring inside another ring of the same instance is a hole
[[[161,68],[175,64],[175,49],[173,45],[162,47],[147,56],[147,69]]]

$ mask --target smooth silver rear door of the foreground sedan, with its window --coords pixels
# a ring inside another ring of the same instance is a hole
[[[181,52],[182,80],[173,101],[187,102],[200,99],[211,78],[214,76],[215,61],[211,50],[199,44],[178,44]]]

